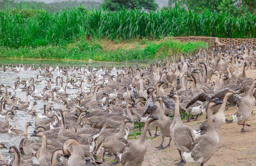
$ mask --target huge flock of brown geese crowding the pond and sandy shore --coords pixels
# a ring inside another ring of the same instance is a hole
[[[248,132],[256,80],[245,70],[256,66],[256,47],[250,39],[216,43],[179,57],[118,69],[1,65],[0,166],[108,165],[106,154],[115,156],[111,166],[141,166],[147,135],[161,135],[156,151],[174,142],[175,165],[203,166],[219,147],[223,125],[234,121]],[[226,119],[230,105],[237,111]],[[202,114],[198,129],[184,123]],[[140,135],[127,139],[135,122]]]

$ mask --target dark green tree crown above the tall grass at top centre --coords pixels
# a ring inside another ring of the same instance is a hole
[[[121,10],[123,7],[131,9],[142,8],[153,11],[158,8],[155,0],[103,0],[101,6],[111,11]]]

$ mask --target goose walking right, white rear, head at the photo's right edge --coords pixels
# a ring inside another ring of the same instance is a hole
[[[244,126],[250,126],[245,122],[250,118],[253,108],[255,107],[256,99],[253,96],[255,86],[256,79],[251,84],[249,92],[242,98],[237,112],[230,115],[238,125],[243,125],[241,132],[248,132],[248,130],[244,130]]]

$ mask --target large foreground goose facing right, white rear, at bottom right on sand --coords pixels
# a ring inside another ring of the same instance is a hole
[[[207,109],[208,119],[212,119],[212,109],[214,106],[222,104],[218,98],[210,101]],[[219,136],[214,130],[214,125],[212,120],[207,121],[206,133],[199,138],[197,138],[192,146],[183,153],[183,156],[187,162],[195,163],[196,166],[203,166],[203,164],[208,161],[212,155],[216,152],[219,145]]]

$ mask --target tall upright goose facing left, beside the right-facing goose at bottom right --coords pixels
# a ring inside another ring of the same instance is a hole
[[[170,125],[170,132],[171,138],[173,139],[181,157],[181,161],[176,163],[176,165],[183,166],[186,163],[186,160],[182,158],[181,153],[192,147],[194,139],[190,129],[181,121],[179,97],[177,95],[176,89],[171,90],[170,94],[167,96],[175,101],[175,115],[172,124]]]

